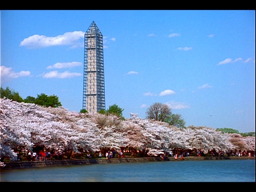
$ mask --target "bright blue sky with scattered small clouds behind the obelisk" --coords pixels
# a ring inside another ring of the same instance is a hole
[[[104,41],[106,109],[166,103],[186,126],[255,132],[255,10],[2,10],[1,86],[83,106],[84,33]]]

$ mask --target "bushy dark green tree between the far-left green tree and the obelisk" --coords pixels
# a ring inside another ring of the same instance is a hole
[[[45,93],[37,94],[37,98],[35,100],[35,104],[39,106],[45,107],[60,107],[61,102],[59,102],[59,98],[56,95],[46,95]]]

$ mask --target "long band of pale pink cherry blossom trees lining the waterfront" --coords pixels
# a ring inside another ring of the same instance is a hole
[[[158,156],[170,149],[255,151],[255,137],[222,133],[211,127],[179,129],[165,122],[142,119],[138,114],[122,120],[113,114],[76,113],[63,107],[0,100],[0,155],[42,147],[97,152],[133,148]]]

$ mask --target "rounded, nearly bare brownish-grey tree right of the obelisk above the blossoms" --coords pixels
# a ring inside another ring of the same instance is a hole
[[[171,108],[166,104],[156,102],[149,106],[146,111],[147,119],[154,119],[155,121],[164,122],[165,119],[172,115]]]

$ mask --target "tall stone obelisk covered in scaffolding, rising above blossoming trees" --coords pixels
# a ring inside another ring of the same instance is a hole
[[[84,34],[83,109],[106,110],[103,36],[94,21]]]

